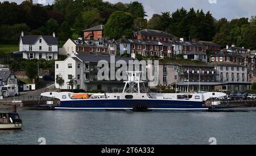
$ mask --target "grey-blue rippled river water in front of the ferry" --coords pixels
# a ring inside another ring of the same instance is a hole
[[[0,144],[256,144],[249,112],[107,112],[18,109],[22,130],[0,131]]]

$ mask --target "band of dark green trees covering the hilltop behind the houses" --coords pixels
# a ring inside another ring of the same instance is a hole
[[[236,44],[256,49],[256,18],[215,19],[212,14],[193,8],[154,14],[149,20],[142,3],[110,3],[102,0],[56,0],[52,5],[36,6],[28,1],[0,3],[0,44],[18,43],[20,32],[52,35],[59,41],[82,36],[82,30],[104,24],[110,39],[130,37],[133,31],[157,29],[185,40],[214,41],[225,47]],[[8,33],[6,33],[8,32]]]

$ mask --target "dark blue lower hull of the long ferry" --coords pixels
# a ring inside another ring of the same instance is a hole
[[[180,100],[72,100],[63,101],[55,109],[127,110],[147,111],[208,111],[203,102]]]

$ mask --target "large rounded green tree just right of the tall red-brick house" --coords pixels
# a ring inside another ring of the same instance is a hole
[[[118,23],[118,24],[117,24]],[[131,29],[133,25],[133,19],[131,15],[123,11],[115,11],[110,17],[104,27],[104,34],[110,39],[120,39],[127,32],[127,29]]]

